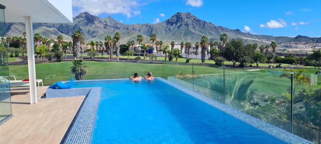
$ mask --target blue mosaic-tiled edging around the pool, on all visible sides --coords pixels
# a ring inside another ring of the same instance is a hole
[[[268,124],[264,121],[261,121],[253,116],[247,115],[239,110],[231,108],[227,105],[221,104],[218,101],[210,99],[200,93],[193,92],[181,85],[170,82],[161,77],[155,77],[174,88],[185,92],[198,100],[201,100],[215,108],[220,109],[221,111],[247,123],[250,124],[280,140],[283,140],[287,143],[293,144],[314,144],[308,140],[305,140],[297,135],[294,135],[290,132],[282,130],[272,124]],[[99,80],[78,80],[75,82],[82,81],[112,81],[112,80],[128,80],[128,78],[120,79],[99,79]],[[63,81],[68,82],[68,81]],[[70,97],[70,96],[83,96],[86,95],[84,102],[78,110],[78,113],[75,116],[73,123],[70,125],[69,131],[66,132],[65,139],[61,143],[74,144],[74,143],[91,143],[92,132],[96,120],[96,114],[98,110],[98,104],[101,94],[101,87],[92,87],[92,88],[72,88],[72,89],[47,89],[46,97],[47,98],[56,98],[56,97]],[[48,92],[48,93],[47,93]]]

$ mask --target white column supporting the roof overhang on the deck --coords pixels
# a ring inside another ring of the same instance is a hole
[[[33,45],[33,29],[30,16],[25,16],[26,38],[27,38],[27,54],[28,54],[28,69],[29,69],[29,83],[30,83],[30,104],[37,103],[37,86],[36,86],[36,65],[35,52]]]

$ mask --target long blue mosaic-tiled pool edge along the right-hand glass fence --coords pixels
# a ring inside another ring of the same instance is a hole
[[[310,142],[308,140],[305,140],[297,135],[294,135],[290,132],[287,132],[287,131],[284,131],[272,124],[268,124],[268,123],[265,123],[264,121],[261,121],[253,116],[250,116],[250,115],[247,115],[239,110],[236,110],[234,108],[230,108],[229,106],[227,105],[224,105],[224,104],[221,104],[220,102],[218,101],[215,101],[213,99],[210,99],[200,93],[197,93],[197,92],[193,92],[192,90],[188,89],[188,88],[185,88],[181,85],[178,85],[178,84],[175,84],[173,82],[170,82],[166,79],[163,79],[163,78],[160,78],[160,77],[157,77],[156,79],[159,79],[161,81],[163,81],[164,83],[166,84],[169,84],[191,96],[194,96],[195,98],[199,99],[199,100],[202,100],[204,101],[205,103],[209,104],[209,105],[212,105],[213,107],[215,108],[218,108],[220,109],[221,111],[224,111],[225,113],[231,115],[231,116],[234,116],[236,118],[238,118],[239,120],[242,120],[244,122],[246,122],[247,124],[250,124],[250,125],[253,125],[255,126],[256,128],[264,131],[264,132],[267,132],[271,135],[273,135],[274,137],[280,139],[280,140],[283,140],[287,143],[292,143],[292,144],[313,144],[313,142]]]

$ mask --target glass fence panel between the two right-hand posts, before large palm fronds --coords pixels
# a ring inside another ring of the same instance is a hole
[[[290,132],[291,79],[288,74],[226,67],[225,104]]]

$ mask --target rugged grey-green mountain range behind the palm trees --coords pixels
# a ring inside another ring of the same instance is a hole
[[[7,36],[21,36],[25,31],[24,23],[7,23]],[[75,30],[81,30],[85,41],[104,41],[107,35],[114,35],[115,32],[121,33],[121,43],[134,40],[138,34],[142,34],[144,42],[149,43],[149,36],[152,33],[157,35],[158,40],[165,43],[175,41],[176,43],[192,42],[200,40],[203,35],[209,37],[211,41],[219,41],[221,34],[226,33],[229,38],[241,38],[246,43],[269,44],[269,41],[277,43],[306,41],[307,43],[321,43],[320,38],[308,36],[267,36],[253,35],[242,32],[239,29],[229,29],[222,26],[216,26],[211,22],[198,19],[191,13],[178,12],[168,20],[157,24],[123,24],[111,18],[99,18],[88,12],[80,13],[73,18],[73,23],[34,23],[34,33],[40,33],[49,39],[56,39],[58,35],[62,35],[65,40],[71,40],[71,36]],[[264,39],[265,41],[259,40]],[[268,42],[266,42],[268,41]]]

